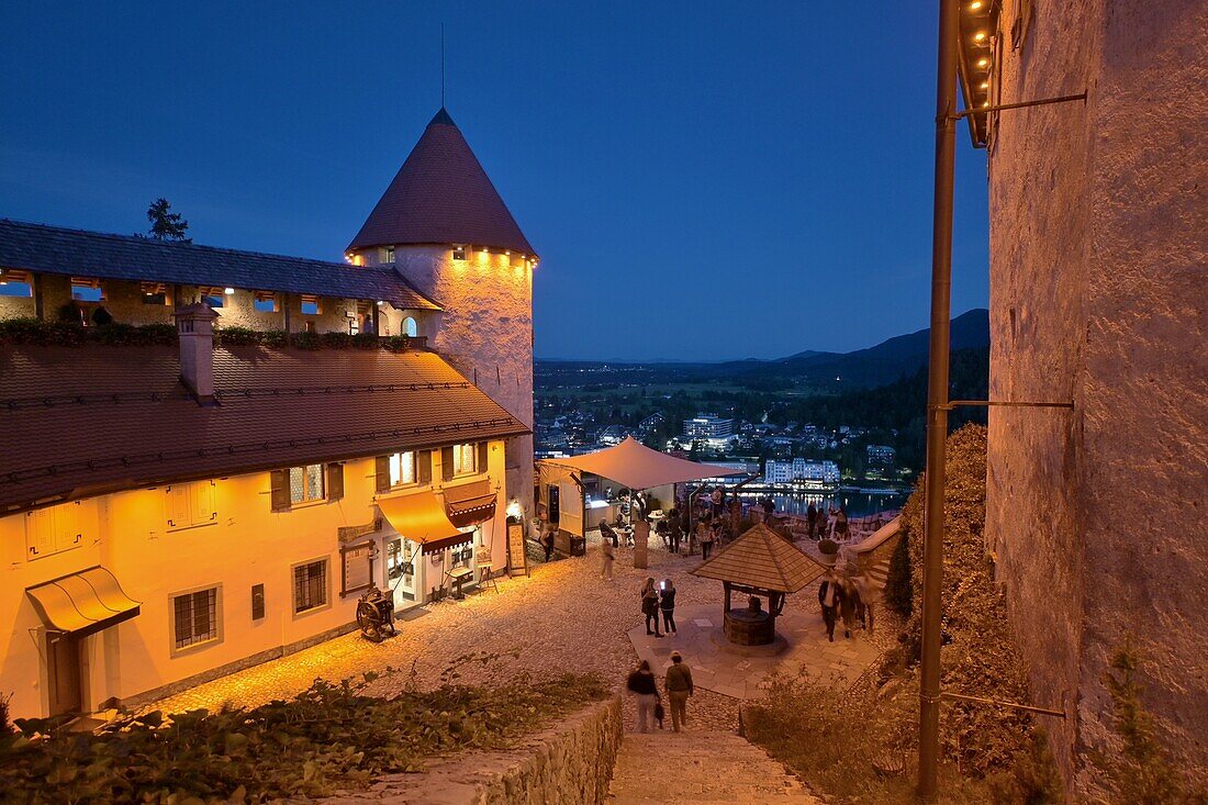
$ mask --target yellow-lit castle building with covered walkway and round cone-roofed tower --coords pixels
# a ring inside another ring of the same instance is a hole
[[[371,584],[405,609],[506,568],[535,255],[446,112],[400,178],[354,265],[0,220],[12,716],[135,705],[354,629]],[[499,210],[519,239],[466,227]]]

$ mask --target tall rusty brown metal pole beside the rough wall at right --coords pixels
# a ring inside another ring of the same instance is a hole
[[[940,769],[940,612],[943,579],[945,439],[948,435],[948,329],[952,291],[952,185],[957,147],[958,0],[940,0],[931,221],[931,344],[927,389],[927,514],[923,542],[923,662],[918,793],[935,797]]]

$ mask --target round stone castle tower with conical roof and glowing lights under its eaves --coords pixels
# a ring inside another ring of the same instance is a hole
[[[538,257],[442,108],[345,250],[395,270],[443,309],[416,334],[533,427],[533,268]],[[408,325],[395,323],[393,331]],[[510,439],[507,498],[533,516],[533,438]]]

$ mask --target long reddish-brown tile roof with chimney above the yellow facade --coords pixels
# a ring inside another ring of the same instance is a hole
[[[178,354],[0,347],[0,510],[528,433],[435,353],[219,348],[214,406]]]

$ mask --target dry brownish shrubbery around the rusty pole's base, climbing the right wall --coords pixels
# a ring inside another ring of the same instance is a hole
[[[1006,625],[982,542],[986,517],[986,428],[948,438],[945,490],[942,684],[946,690],[1027,702],[1026,668]],[[902,511],[911,589],[922,600],[923,493]],[[905,562],[901,562],[905,564]],[[750,735],[819,790],[853,803],[914,801],[918,725],[916,608],[902,648],[882,661],[876,690],[840,691],[806,679],[778,681],[753,707]],[[1021,711],[948,702],[941,720],[948,803],[1061,801],[1061,781],[1043,735]]]

